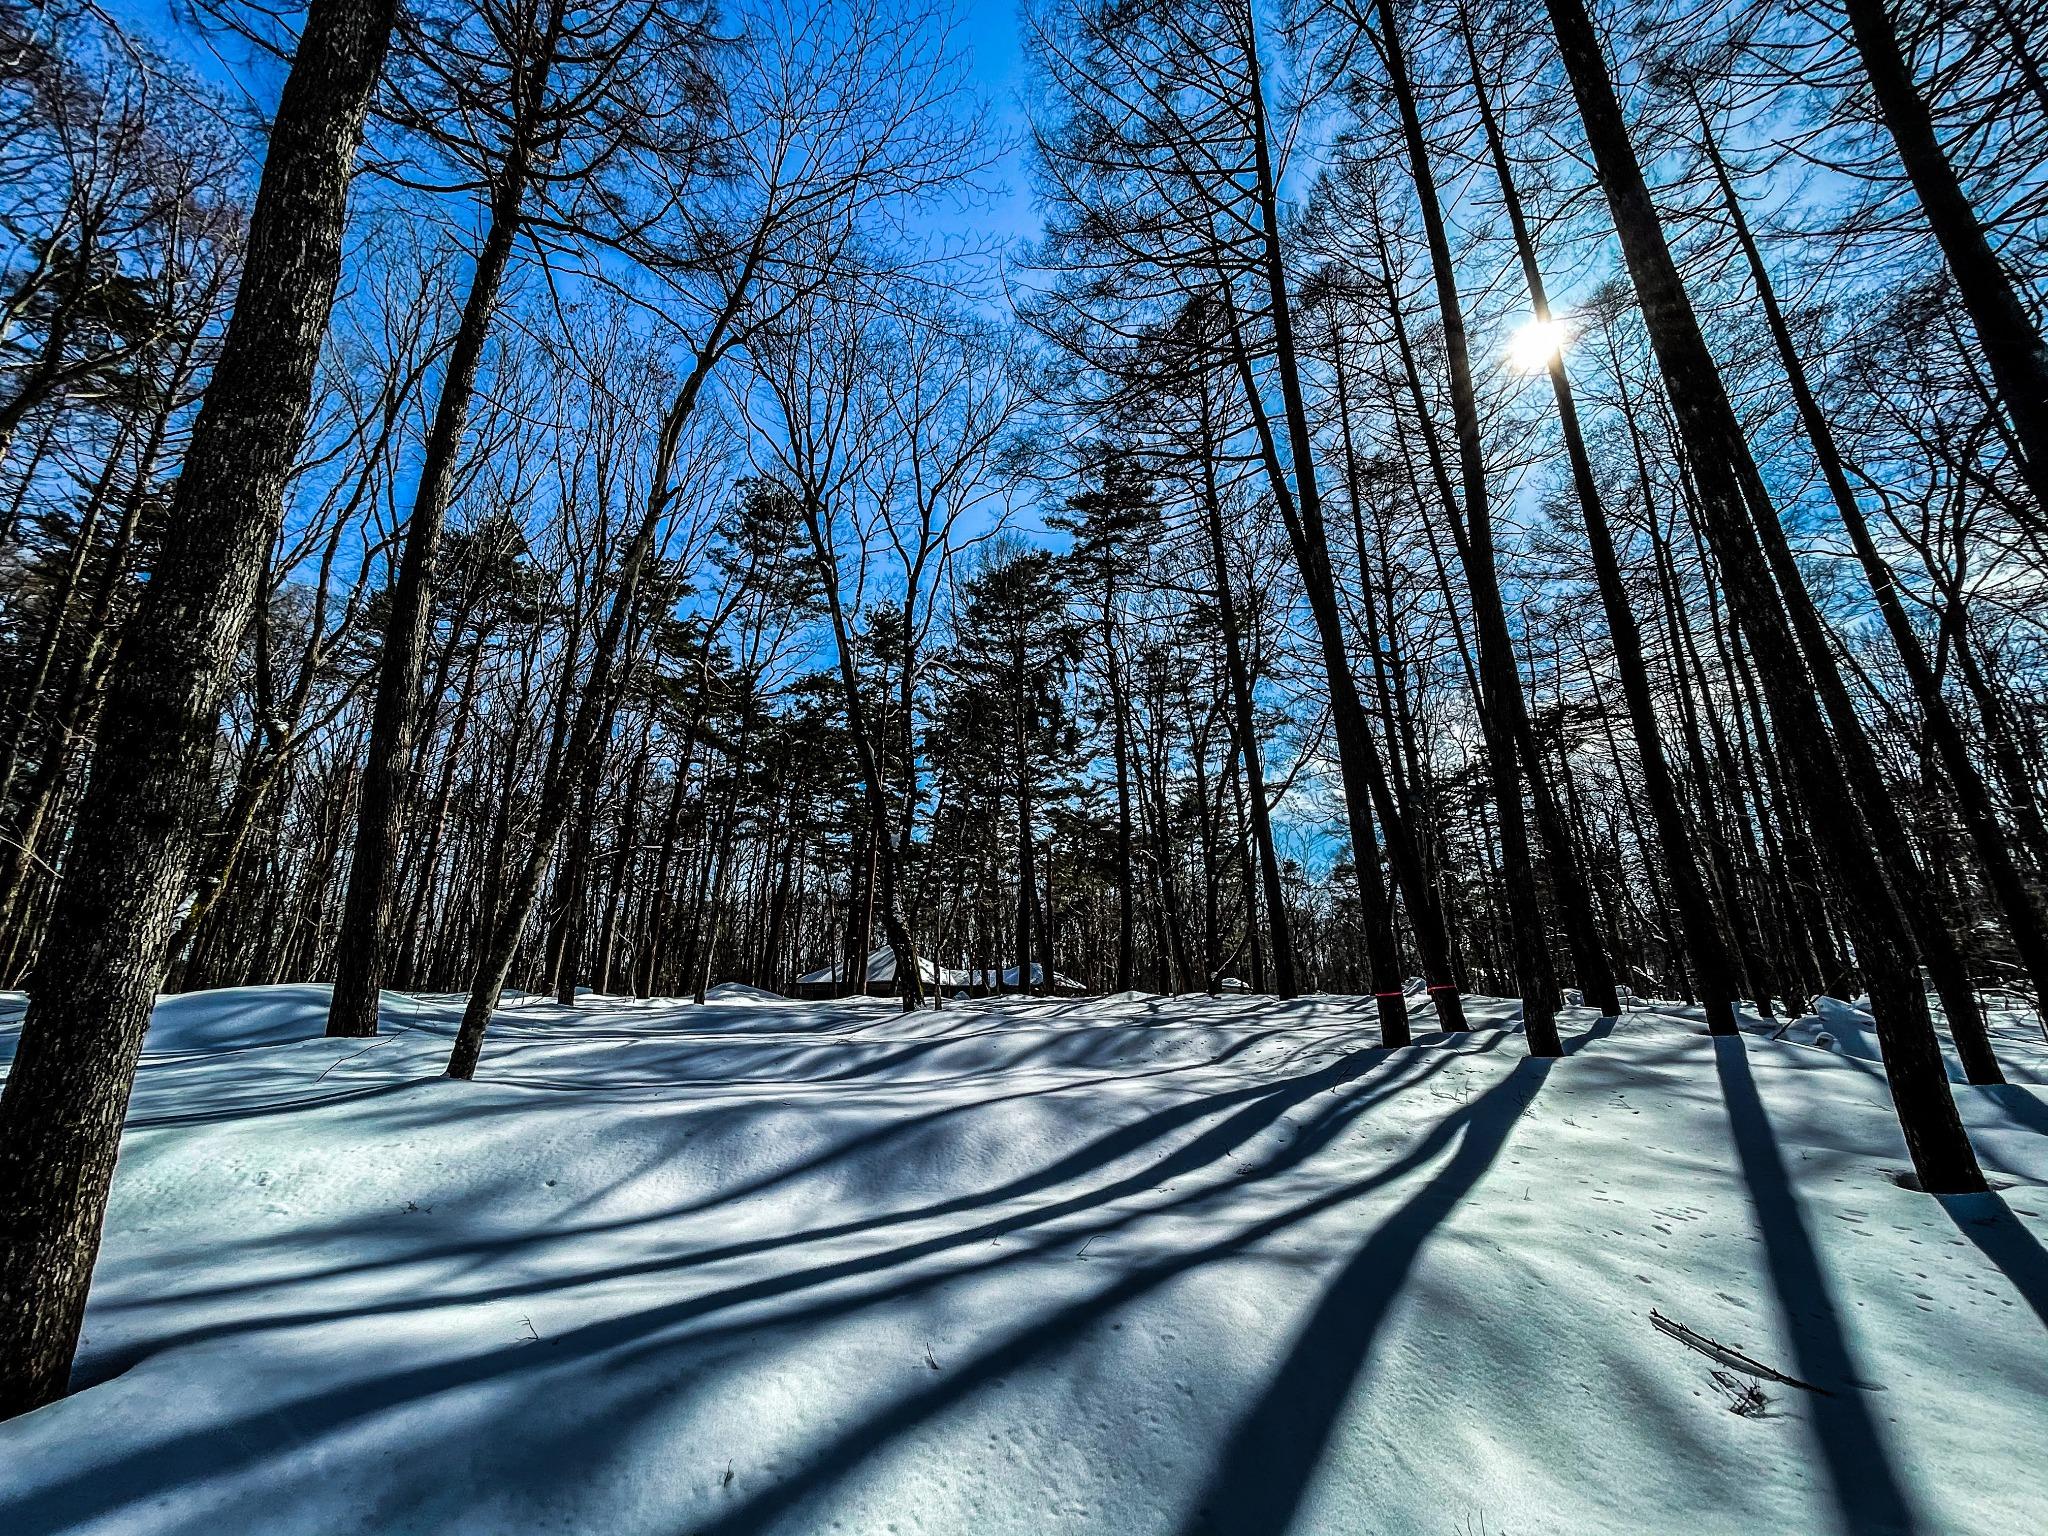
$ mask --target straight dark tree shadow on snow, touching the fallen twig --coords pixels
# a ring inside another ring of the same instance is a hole
[[[1864,1403],[1855,1356],[1841,1327],[1827,1274],[1821,1270],[1821,1255],[1806,1231],[1806,1219],[1800,1214],[1798,1194],[1792,1190],[1763,1098],[1749,1073],[1743,1036],[1714,1036],[1714,1069],[1720,1073],[1735,1155],[1749,1184],[1749,1202],[1763,1237],[1778,1311],[1792,1339],[1794,1374],[1827,1391],[1825,1397],[1806,1395],[1804,1405],[1815,1440],[1821,1444],[1821,1462],[1835,1507],[1841,1511],[1841,1528],[1855,1536],[1925,1530]]]

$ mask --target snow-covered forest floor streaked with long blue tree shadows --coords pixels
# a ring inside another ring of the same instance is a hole
[[[324,1008],[158,1010],[8,1536],[2048,1530],[2048,1090],[1915,1194],[1868,1022]]]

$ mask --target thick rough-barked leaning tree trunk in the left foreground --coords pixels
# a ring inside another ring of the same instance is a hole
[[[307,10],[270,125],[242,291],[123,645],[0,1098],[0,1417],[49,1403],[70,1376],[229,668],[305,434],[391,18],[387,0]]]

